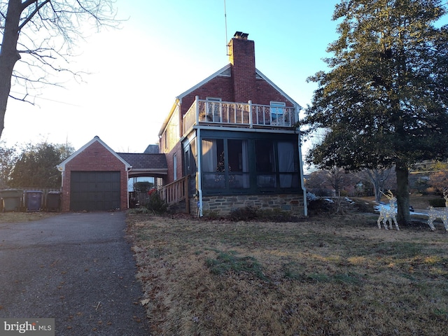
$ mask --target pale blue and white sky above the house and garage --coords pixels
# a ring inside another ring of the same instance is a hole
[[[1,140],[77,150],[98,136],[116,152],[143,153],[176,96],[229,63],[235,31],[255,42],[256,68],[304,108],[316,90],[307,78],[327,69],[337,39],[337,2],[117,0],[120,29],[87,36],[69,64],[89,73],[83,82],[38,90],[35,105],[9,99]]]

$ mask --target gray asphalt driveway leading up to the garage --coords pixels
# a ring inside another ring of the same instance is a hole
[[[55,318],[55,335],[149,335],[125,216],[0,223],[0,317]]]

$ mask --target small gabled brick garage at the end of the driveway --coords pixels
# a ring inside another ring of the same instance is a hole
[[[94,137],[57,166],[62,172],[62,211],[127,209],[132,166]]]

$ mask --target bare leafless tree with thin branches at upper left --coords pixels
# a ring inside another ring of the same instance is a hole
[[[79,74],[68,66],[73,43],[83,37],[86,25],[115,25],[113,2],[0,0],[0,137],[8,97],[33,103],[29,90],[62,82],[51,73]],[[22,90],[10,95],[11,85]]]

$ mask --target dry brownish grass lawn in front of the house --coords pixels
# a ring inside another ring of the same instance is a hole
[[[151,335],[447,335],[448,234],[127,216]]]

